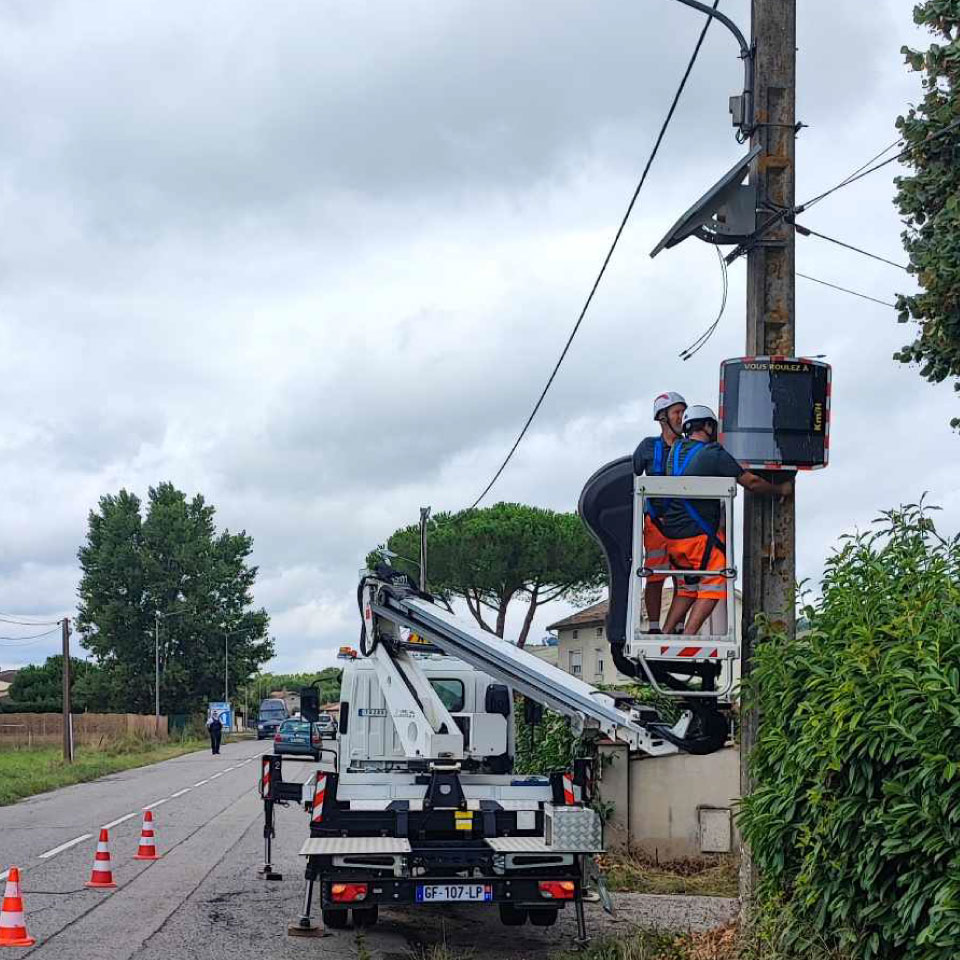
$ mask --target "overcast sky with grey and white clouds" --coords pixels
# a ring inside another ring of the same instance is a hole
[[[746,30],[747,0],[722,9]],[[919,97],[907,0],[803,0],[798,199],[885,147]],[[0,10],[0,611],[72,615],[97,498],[171,480],[245,528],[278,669],[357,629],[366,551],[470,503],[541,389],[701,27],[670,0],[10,0]],[[649,428],[715,403],[744,264],[709,346],[714,251],[649,251],[743,152],[714,27],[535,428],[493,491],[575,508]],[[894,167],[811,211],[902,260]],[[882,300],[902,272],[799,239],[799,269]],[[956,414],[890,359],[892,310],[798,280],[799,353],[834,365],[832,463],[801,478],[799,570],[924,490],[960,525]],[[565,612],[545,612],[536,632]],[[19,631],[19,632],[18,632]],[[4,633],[26,636],[30,628]],[[55,638],[0,641],[0,667]]]

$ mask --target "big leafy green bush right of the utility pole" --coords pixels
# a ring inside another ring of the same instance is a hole
[[[740,827],[787,956],[960,956],[960,538],[923,505],[828,560],[809,632],[758,646]],[[762,915],[762,910],[761,910]]]

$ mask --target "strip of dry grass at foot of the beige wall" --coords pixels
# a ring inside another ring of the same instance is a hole
[[[702,857],[654,863],[645,857],[605,854],[607,887],[618,893],[674,893],[696,897],[735,897],[737,858]]]

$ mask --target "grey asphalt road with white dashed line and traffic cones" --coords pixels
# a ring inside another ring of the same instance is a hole
[[[277,960],[357,957],[409,960],[411,951],[445,941],[473,960],[546,960],[572,945],[572,910],[553,928],[502,927],[489,907],[429,907],[383,911],[366,931],[328,931],[320,939],[287,936],[299,912],[307,833],[296,807],[277,816],[274,864],[283,880],[257,877],[263,857],[257,756],[269,744],[228,744],[220,756],[195,753],[67,787],[0,807],[0,872],[21,868],[31,948],[6,957],[38,960],[169,960],[261,956]],[[287,779],[305,780],[313,765],[285,762]],[[142,810],[156,819],[162,859],[132,859]],[[110,826],[113,891],[84,887],[97,834]],[[588,905],[599,935],[628,934],[634,924],[702,929],[724,922],[733,901],[697,897],[620,895],[611,919]]]

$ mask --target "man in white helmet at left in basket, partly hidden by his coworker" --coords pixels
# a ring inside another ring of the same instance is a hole
[[[679,393],[661,393],[653,401],[653,419],[660,424],[660,435],[645,437],[633,454],[633,470],[648,477],[662,477],[667,472],[667,459],[674,442],[681,437],[683,412],[687,401]],[[669,565],[667,539],[661,529],[660,517],[664,511],[661,500],[646,501],[643,518],[643,555],[647,567],[660,568]],[[651,574],[644,588],[643,598],[650,621],[648,631],[660,633],[660,607],[663,603],[664,573]]]

